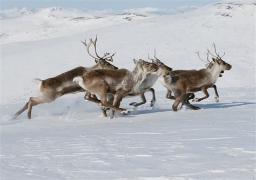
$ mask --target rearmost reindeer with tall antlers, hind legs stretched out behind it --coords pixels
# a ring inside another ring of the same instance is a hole
[[[76,67],[73,68],[70,71],[64,72],[62,74],[57,75],[56,77],[41,80],[41,79],[34,79],[33,81],[38,86],[38,95],[36,97],[31,97],[29,101],[25,104],[24,107],[22,107],[18,112],[14,115],[14,119],[21,113],[24,112],[24,110],[28,109],[28,119],[31,119],[31,110],[33,106],[39,105],[41,103],[50,103],[52,101],[55,101],[57,98],[64,94],[69,93],[78,93],[78,92],[84,92],[84,89],[78,86],[75,82],[73,82],[73,78],[76,76],[84,75],[86,72],[90,72],[93,70],[98,69],[104,69],[104,70],[117,70],[118,68],[112,64],[110,64],[107,61],[113,61],[112,54],[110,56],[110,53],[104,53],[103,57],[99,57],[96,50],[96,42],[97,42],[97,35],[95,41],[93,41],[90,38],[90,44],[92,43],[95,47],[95,53],[97,57],[92,56],[92,54],[89,52],[89,47],[86,46],[87,53],[95,59],[96,65],[92,67]],[[85,42],[82,41],[84,45]]]

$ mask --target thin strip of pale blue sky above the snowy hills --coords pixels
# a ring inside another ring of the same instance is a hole
[[[0,0],[0,9],[11,8],[47,8],[61,6],[63,8],[85,8],[85,9],[112,9],[120,11],[132,8],[153,7],[159,9],[175,9],[180,6],[204,6],[219,2],[217,0]]]

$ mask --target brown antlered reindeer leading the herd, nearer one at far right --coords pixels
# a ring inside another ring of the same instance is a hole
[[[199,109],[199,107],[191,105],[188,101],[187,93],[202,91],[205,94],[203,98],[198,98],[195,101],[201,101],[208,98],[209,94],[207,88],[210,88],[215,84],[221,71],[231,69],[232,66],[221,59],[225,53],[220,57],[216,52],[215,44],[213,44],[213,46],[217,56],[214,56],[212,61],[210,61],[210,69],[181,72],[179,74],[170,72],[170,75],[164,78],[166,88],[174,93],[175,101],[172,106],[173,111],[177,111],[180,102],[192,109]],[[208,53],[213,56],[209,50]]]

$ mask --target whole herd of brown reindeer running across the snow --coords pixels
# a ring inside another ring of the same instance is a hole
[[[31,97],[29,101],[15,115],[28,109],[28,119],[31,119],[31,110],[33,106],[41,103],[50,103],[64,94],[85,92],[84,99],[95,102],[102,109],[103,115],[107,116],[106,110],[112,109],[110,118],[113,118],[114,112],[122,114],[129,113],[128,110],[120,108],[120,102],[125,96],[137,96],[142,98],[142,102],[132,102],[131,106],[140,106],[146,103],[145,92],[151,91],[153,98],[151,106],[156,102],[154,89],[152,88],[155,82],[160,79],[161,84],[166,87],[167,99],[174,100],[172,105],[173,111],[177,111],[178,105],[186,105],[192,109],[199,109],[197,106],[191,105],[190,101],[201,101],[208,98],[208,88],[214,88],[215,101],[219,101],[219,95],[215,82],[218,77],[222,77],[225,70],[230,70],[231,65],[227,64],[219,53],[216,52],[215,44],[213,44],[214,56],[207,49],[207,61],[204,61],[199,56],[199,51],[196,52],[200,60],[206,63],[206,68],[201,70],[176,70],[166,66],[158,58],[156,58],[156,50],[154,50],[154,59],[152,63],[139,59],[133,59],[135,64],[134,70],[118,69],[108,61],[113,61],[114,54],[104,53],[100,57],[96,50],[97,35],[93,41],[89,39],[82,43],[86,46],[87,53],[95,59],[96,65],[92,67],[76,67],[70,71],[57,75],[56,77],[41,80],[35,79],[34,82],[38,85],[38,95]],[[94,46],[96,57],[90,53],[91,45]],[[209,54],[212,56],[210,61]],[[205,96],[203,98],[195,98],[193,93],[202,91]],[[173,93],[173,95],[172,95]],[[98,99],[99,98],[99,99]]]

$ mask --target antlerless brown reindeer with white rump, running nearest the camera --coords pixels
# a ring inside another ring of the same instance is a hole
[[[132,72],[126,69],[95,70],[86,73],[83,77],[75,77],[73,81],[90,94],[99,96],[100,100],[94,98],[88,100],[112,109],[110,116],[112,119],[115,111],[122,114],[129,113],[128,110],[118,107],[120,100],[128,94],[134,93],[146,79],[147,74],[156,73],[158,70],[157,65],[142,59],[133,59],[133,61],[136,67]],[[112,105],[107,102],[107,93],[114,94]]]

